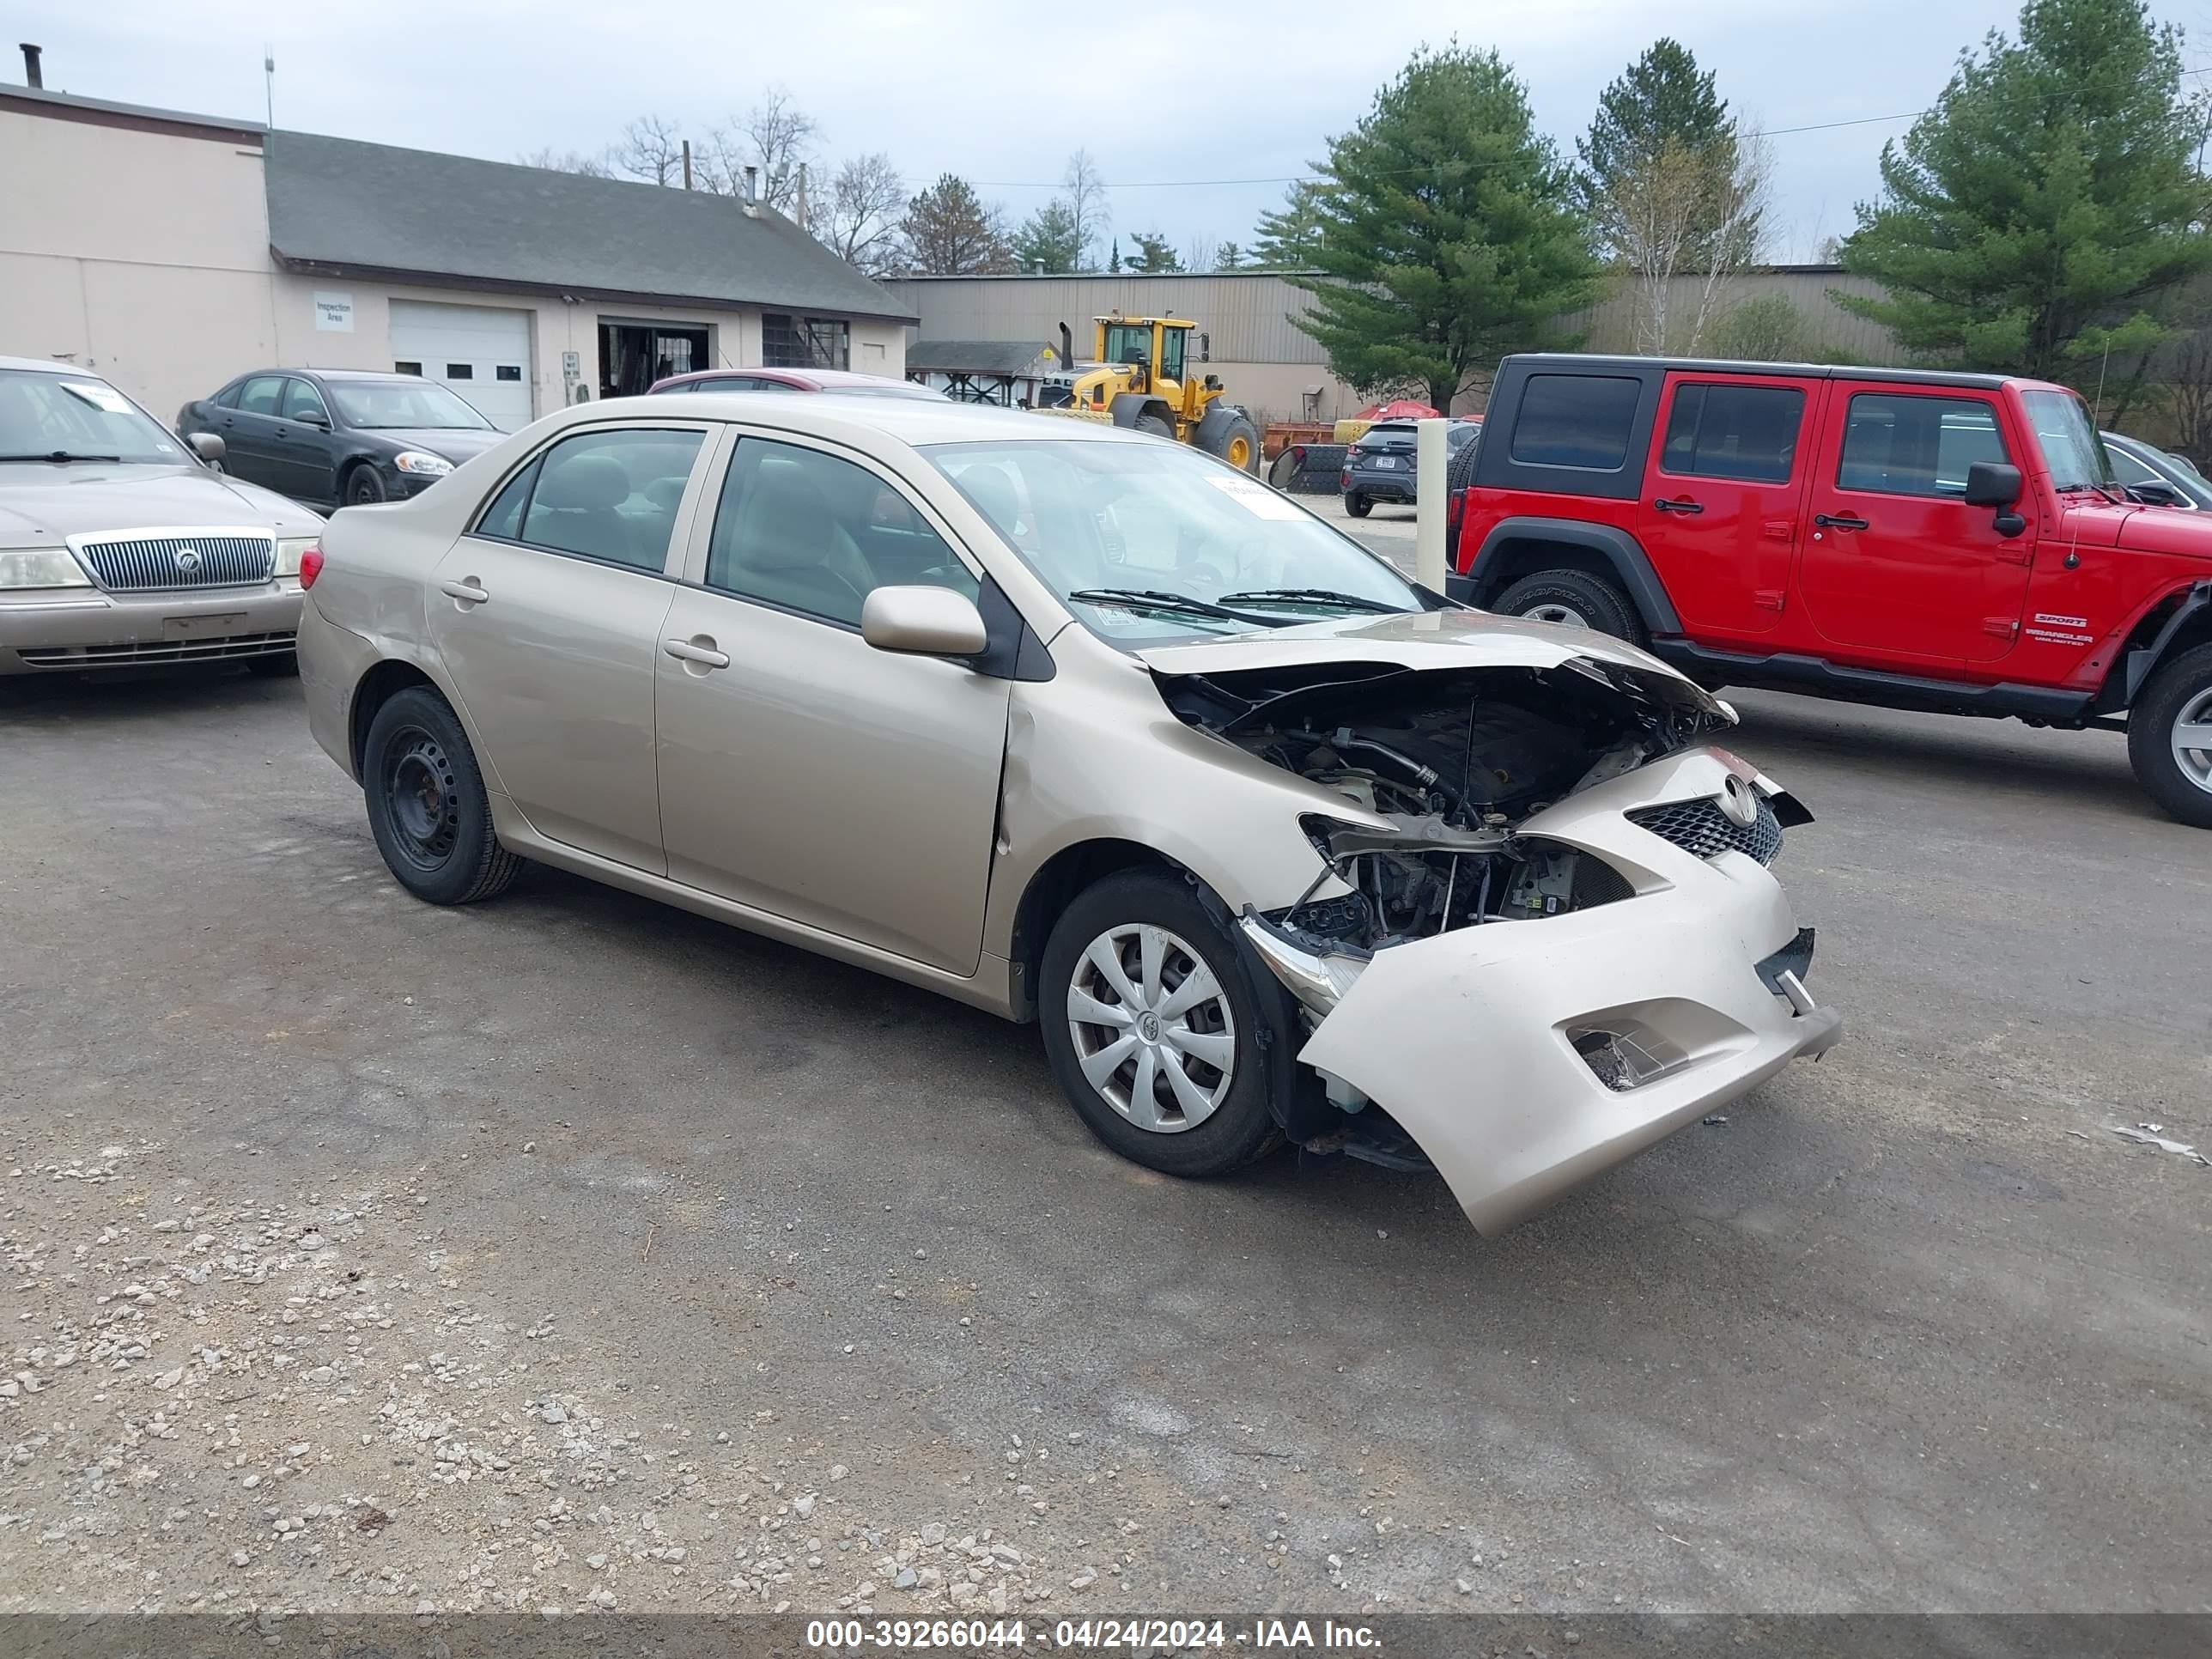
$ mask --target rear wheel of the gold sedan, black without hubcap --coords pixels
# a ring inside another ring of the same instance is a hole
[[[447,701],[409,686],[376,710],[361,787],[385,865],[416,898],[473,905],[504,894],[522,858],[491,832],[491,801]]]

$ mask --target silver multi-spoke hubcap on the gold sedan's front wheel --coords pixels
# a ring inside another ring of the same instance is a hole
[[[1212,1117],[1237,1073],[1237,1018],[1221,980],[1183,938],[1150,922],[1110,927],[1075,960],[1068,1035],[1099,1099],[1155,1135]]]

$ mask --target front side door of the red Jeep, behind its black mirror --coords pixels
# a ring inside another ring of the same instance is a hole
[[[1975,664],[2020,633],[2035,562],[2035,504],[2022,535],[1966,507],[1973,462],[2022,465],[1991,396],[1836,380],[1807,493],[1798,597],[1838,657],[1865,664]]]

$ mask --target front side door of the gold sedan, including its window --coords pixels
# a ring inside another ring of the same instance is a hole
[[[1009,684],[860,639],[860,604],[885,584],[869,562],[885,493],[911,515],[898,580],[973,597],[949,531],[887,469],[790,434],[739,438],[664,628],[668,874],[973,973]]]

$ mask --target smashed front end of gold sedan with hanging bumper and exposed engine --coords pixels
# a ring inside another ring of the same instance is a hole
[[[1765,869],[1809,814],[1710,743],[1734,714],[1679,675],[1566,655],[1155,679],[1327,799],[1301,818],[1312,885],[1239,916],[1305,1022],[1310,1150],[1433,1164],[1493,1232],[1834,1042]]]

